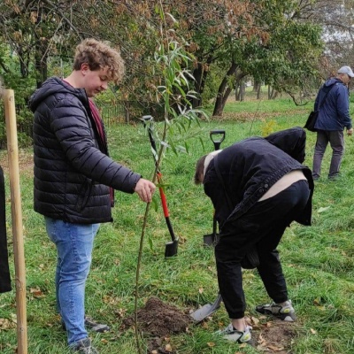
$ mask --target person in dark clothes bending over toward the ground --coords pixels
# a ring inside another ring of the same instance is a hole
[[[196,163],[196,184],[212,199],[219,223],[215,245],[219,292],[231,323],[227,340],[249,342],[242,268],[257,267],[271,304],[256,311],[296,319],[277,246],[294,220],[311,225],[313,180],[305,158],[304,129],[294,127],[251,137],[213,151]]]

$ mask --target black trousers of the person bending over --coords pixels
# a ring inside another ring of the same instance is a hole
[[[244,316],[241,261],[258,250],[258,273],[275,303],[288,300],[288,289],[276,250],[286,227],[304,211],[310,196],[307,181],[297,181],[281,193],[258,202],[241,218],[228,220],[215,246],[219,291],[230,319]]]

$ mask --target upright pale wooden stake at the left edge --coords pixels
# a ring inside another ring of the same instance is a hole
[[[23,243],[21,195],[19,189],[19,145],[17,139],[15,95],[12,89],[4,90],[7,152],[12,206],[12,239],[15,258],[16,312],[18,354],[27,354],[26,268]]]

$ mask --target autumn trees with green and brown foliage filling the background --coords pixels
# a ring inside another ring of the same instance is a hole
[[[285,91],[296,100],[338,65],[351,65],[352,5],[353,0],[166,0],[163,8],[169,14],[165,27],[194,58],[188,64],[198,93],[193,107],[213,96],[214,114],[221,114],[245,75],[270,85],[270,97]],[[112,95],[119,94],[136,116],[160,115],[162,105],[152,95],[163,84],[153,59],[158,6],[135,0],[4,0],[0,73],[26,102],[49,74],[70,67],[76,43],[92,36],[119,45],[126,60],[126,79]]]

